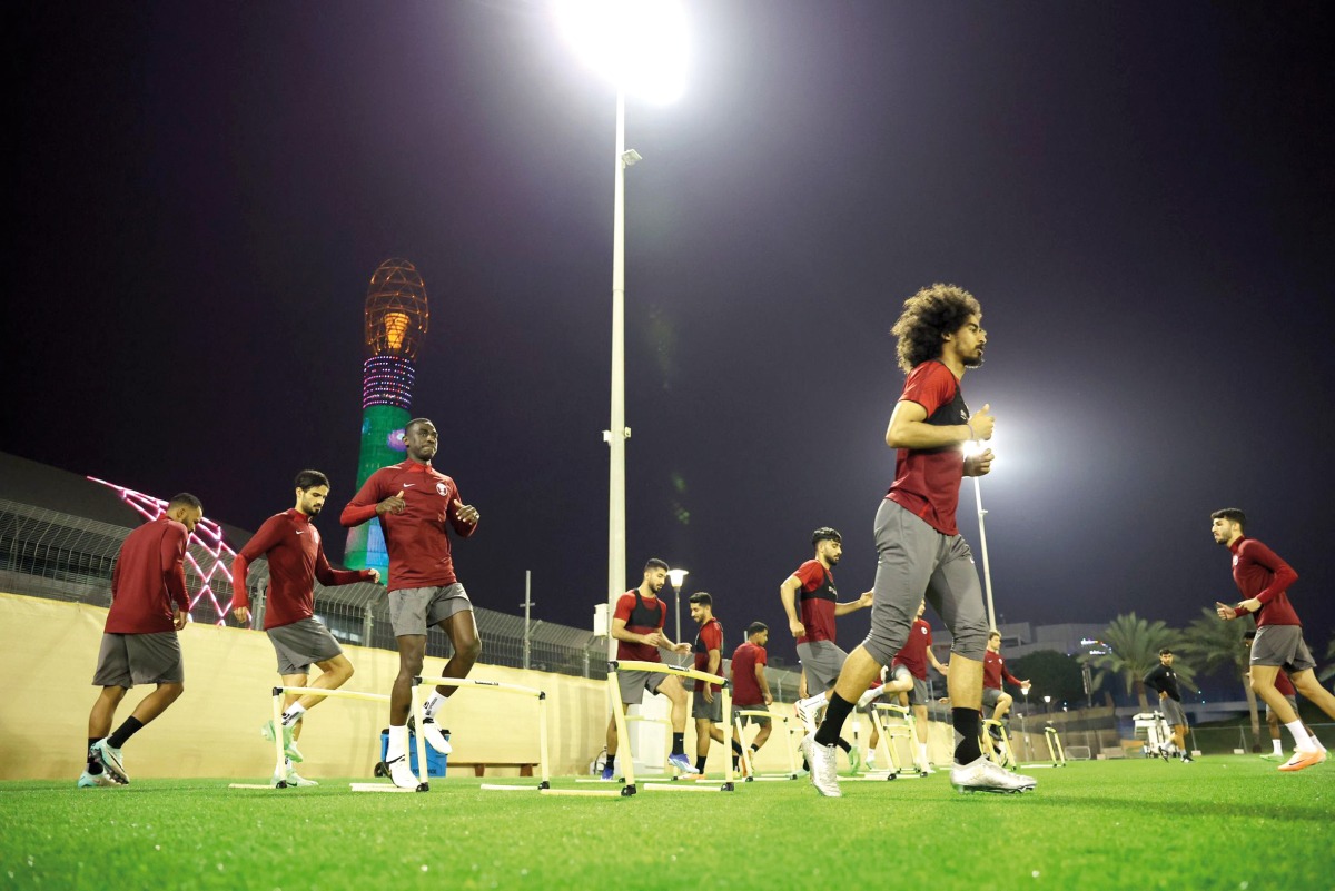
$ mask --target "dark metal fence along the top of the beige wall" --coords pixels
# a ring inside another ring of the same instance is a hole
[[[120,544],[131,530],[60,511],[0,499],[0,590],[55,600],[111,606],[111,574]],[[226,624],[231,611],[231,548],[191,539],[186,588],[191,622]],[[255,627],[263,627],[268,562],[255,560],[246,574]],[[343,643],[396,650],[390,627],[388,598],[382,586],[326,588],[315,583],[315,614]],[[579,678],[607,676],[607,639],[591,631],[551,622],[526,623],[495,610],[474,607],[482,662],[533,668]],[[427,655],[449,658],[450,640],[439,628],[427,635]],[[663,659],[680,663],[676,654]],[[797,672],[766,671],[778,702],[797,696]]]

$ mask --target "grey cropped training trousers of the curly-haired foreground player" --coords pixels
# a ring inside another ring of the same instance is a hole
[[[918,602],[926,598],[955,636],[951,652],[983,662],[988,618],[973,552],[959,535],[941,535],[889,499],[876,511],[876,582],[872,630],[862,647],[890,664],[909,639]]]

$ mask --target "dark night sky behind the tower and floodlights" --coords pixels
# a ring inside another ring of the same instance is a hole
[[[362,304],[407,257],[415,415],[482,512],[483,607],[606,595],[614,92],[519,0],[8,4],[0,450],[243,528],[334,480]],[[690,570],[738,640],[840,528],[870,586],[920,287],[984,307],[964,379],[1005,620],[1185,624],[1235,600],[1208,514],[1335,630],[1335,79],[1318,4],[697,1],[689,83],[631,100],[630,578]],[[973,488],[961,531],[977,550]],[[60,508],[59,504],[52,504]],[[685,615],[686,627],[693,627]],[[866,614],[842,624],[849,648]],[[930,616],[929,616],[930,618]],[[936,620],[940,627],[940,620]]]

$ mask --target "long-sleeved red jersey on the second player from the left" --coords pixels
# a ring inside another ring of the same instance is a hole
[[[264,627],[282,628],[315,615],[315,579],[324,586],[371,579],[370,570],[335,570],[324,558],[320,531],[296,508],[264,520],[232,560],[232,607],[250,608],[246,571],[258,558],[268,558],[268,600]]]

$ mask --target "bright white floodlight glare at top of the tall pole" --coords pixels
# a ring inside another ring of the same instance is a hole
[[[627,93],[672,101],[686,85],[686,16],[677,0],[555,0],[566,39]]]

